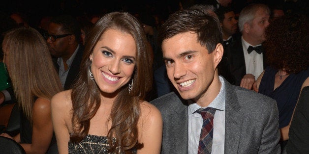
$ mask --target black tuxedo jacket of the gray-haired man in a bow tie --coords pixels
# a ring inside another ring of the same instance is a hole
[[[225,55],[227,55],[229,70],[231,71],[233,79],[235,80],[235,83],[233,84],[239,86],[242,78],[246,75],[246,63],[241,35],[237,35],[237,37],[235,37],[233,46],[224,52],[226,52]],[[264,52],[263,67],[264,69],[266,68]]]

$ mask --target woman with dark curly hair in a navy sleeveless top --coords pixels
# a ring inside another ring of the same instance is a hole
[[[288,129],[300,91],[309,85],[309,21],[303,15],[290,15],[266,29],[264,47],[269,67],[258,77],[258,92],[277,101],[281,140]]]

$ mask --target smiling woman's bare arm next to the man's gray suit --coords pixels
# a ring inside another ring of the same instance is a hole
[[[139,123],[139,143],[144,147],[138,154],[160,154],[162,143],[163,122],[160,111],[148,102],[141,104],[141,118]]]

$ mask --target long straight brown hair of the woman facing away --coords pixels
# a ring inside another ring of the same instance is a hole
[[[5,35],[3,49],[18,104],[32,122],[35,98],[51,100],[62,91],[46,41],[35,29],[20,27]]]

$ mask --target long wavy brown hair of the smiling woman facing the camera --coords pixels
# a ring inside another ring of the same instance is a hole
[[[101,35],[108,29],[117,29],[130,34],[136,43],[136,65],[132,75],[133,89],[128,92],[128,83],[124,85],[115,99],[110,114],[111,128],[108,131],[108,141],[111,153],[118,153],[117,147],[128,151],[138,145],[137,123],[140,117],[140,102],[152,87],[152,59],[147,48],[147,40],[138,20],[125,12],[112,12],[102,17],[93,27],[86,43],[79,77],[73,86],[72,99],[72,142],[80,142],[89,132],[90,120],[100,106],[100,89],[94,80],[88,76],[91,66],[89,59],[93,48]],[[116,137],[116,144],[112,138]]]

